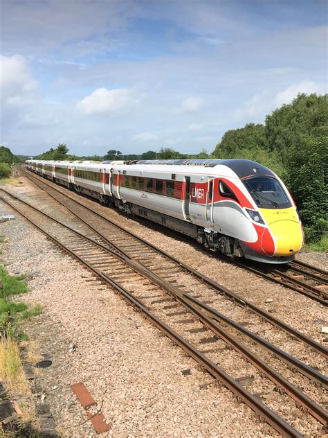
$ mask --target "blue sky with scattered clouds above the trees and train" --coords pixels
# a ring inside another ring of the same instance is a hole
[[[0,0],[0,144],[212,151],[327,93],[324,0]]]

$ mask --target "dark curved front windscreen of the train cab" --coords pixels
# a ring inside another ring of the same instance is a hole
[[[246,189],[262,209],[286,209],[291,207],[280,182],[271,177],[250,177],[244,180]]]

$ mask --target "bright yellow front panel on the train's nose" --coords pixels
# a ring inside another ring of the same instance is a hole
[[[299,222],[277,220],[269,228],[275,240],[275,256],[292,256],[302,247],[303,235]]]

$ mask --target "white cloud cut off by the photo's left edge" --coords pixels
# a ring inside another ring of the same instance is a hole
[[[33,80],[26,58],[0,56],[1,105],[24,107],[35,101],[37,82]]]

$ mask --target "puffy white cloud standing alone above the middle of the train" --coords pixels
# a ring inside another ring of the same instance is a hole
[[[85,114],[120,115],[129,112],[138,99],[133,91],[122,89],[98,88],[78,102],[78,108]]]

